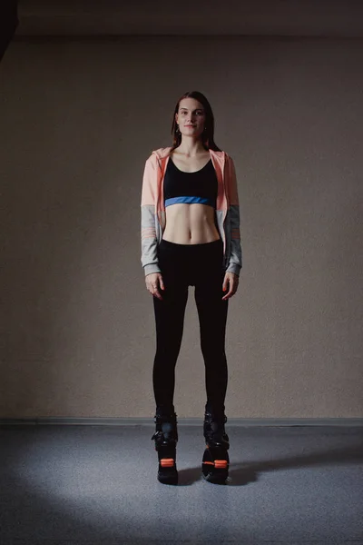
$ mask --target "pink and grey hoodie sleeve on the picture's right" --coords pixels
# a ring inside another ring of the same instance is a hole
[[[228,213],[231,225],[231,255],[227,266],[228,272],[240,274],[242,250],[240,246],[240,200],[237,189],[236,169],[232,158],[226,157],[227,193],[229,198]]]

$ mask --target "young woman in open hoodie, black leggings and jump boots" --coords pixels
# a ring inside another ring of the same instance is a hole
[[[195,286],[207,393],[202,475],[218,483],[228,477],[225,331],[242,264],[240,211],[234,163],[213,135],[206,97],[198,91],[183,94],[172,118],[172,147],[153,151],[143,173],[142,266],[156,322],[152,440],[158,480],[167,484],[178,482],[173,395],[190,285]]]

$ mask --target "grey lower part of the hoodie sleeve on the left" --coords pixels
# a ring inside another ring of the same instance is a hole
[[[161,272],[157,247],[158,241],[156,237],[155,227],[155,207],[153,204],[143,205],[142,209],[142,267],[147,274],[152,272]]]

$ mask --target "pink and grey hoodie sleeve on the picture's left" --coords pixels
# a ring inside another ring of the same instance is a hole
[[[141,235],[142,235],[142,267],[145,276],[152,272],[161,272],[157,256],[156,237],[156,196],[157,196],[157,169],[151,155],[144,167],[142,178],[141,203]]]

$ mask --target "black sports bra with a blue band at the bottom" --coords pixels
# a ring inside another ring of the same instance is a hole
[[[163,192],[165,207],[175,203],[200,203],[216,208],[218,179],[211,159],[201,170],[185,173],[169,158],[166,166]]]

